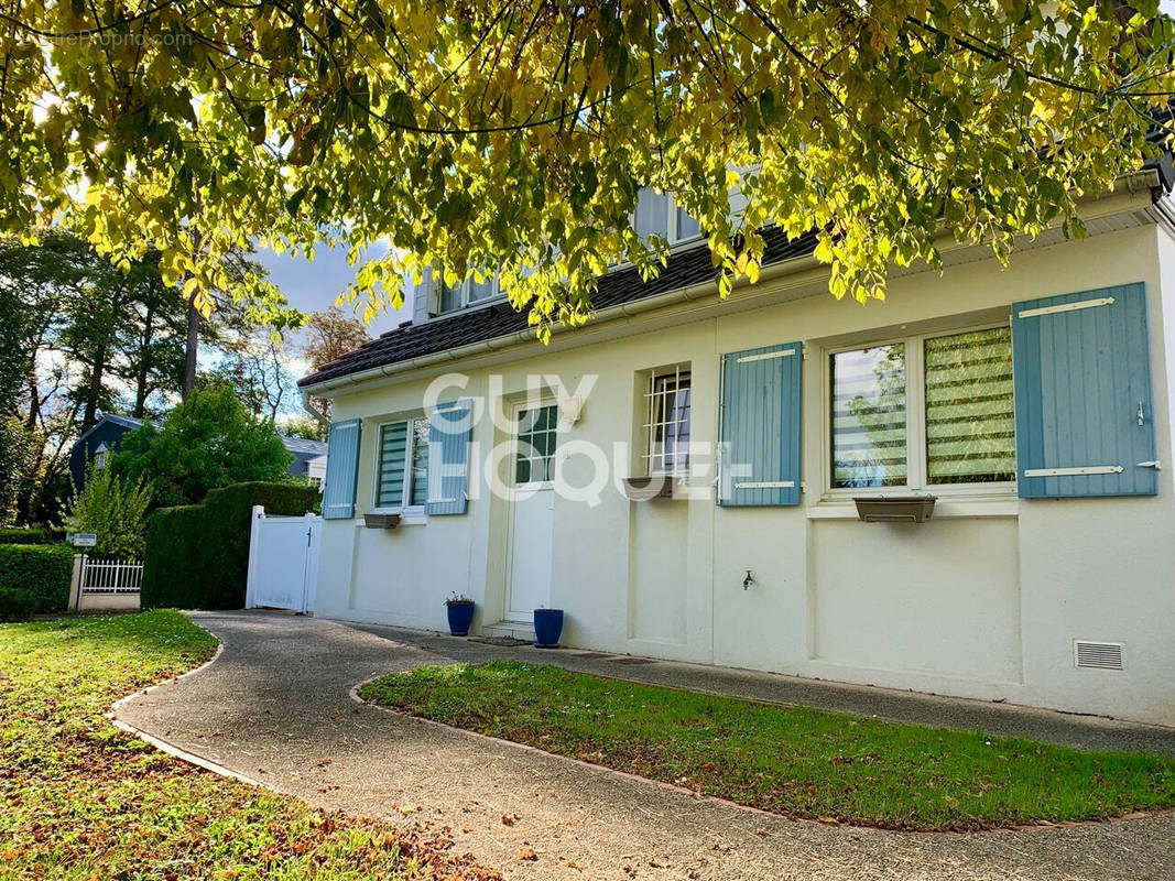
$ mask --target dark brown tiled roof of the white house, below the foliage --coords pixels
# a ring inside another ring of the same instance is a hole
[[[764,265],[806,256],[815,247],[814,235],[788,241],[774,228],[766,230],[764,238],[767,246],[763,257]],[[700,244],[671,255],[660,275],[650,281],[642,280],[640,273],[634,268],[619,269],[600,276],[599,287],[592,297],[592,308],[599,310],[632,303],[657,294],[713,281],[714,276],[710,247]],[[316,374],[303,377],[298,381],[298,385],[314,385],[448,349],[508,337],[528,327],[526,312],[517,312],[501,305],[470,309],[423,324],[408,324],[389,330],[378,339],[372,339],[338,361],[327,364]]]

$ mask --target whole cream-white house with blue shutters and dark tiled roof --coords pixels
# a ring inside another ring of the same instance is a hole
[[[720,301],[664,199],[660,277],[546,347],[492,284],[427,291],[302,381],[336,421],[317,613],[443,630],[458,592],[483,633],[559,607],[584,648],[1175,724],[1164,195],[1123,179],[1007,269],[945,243],[884,303],[777,233]]]

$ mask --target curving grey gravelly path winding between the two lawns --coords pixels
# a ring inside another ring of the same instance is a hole
[[[458,848],[511,880],[1175,877],[1173,815],[972,835],[785,820],[349,697],[377,673],[488,646],[415,634],[427,650],[404,632],[392,640],[281,614],[193,618],[223,640],[221,657],[123,704],[121,720],[325,808],[449,827]],[[620,670],[634,678],[654,666]]]

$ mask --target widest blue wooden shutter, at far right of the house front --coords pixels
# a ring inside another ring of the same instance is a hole
[[[1154,496],[1146,287],[1012,307],[1021,498]]]

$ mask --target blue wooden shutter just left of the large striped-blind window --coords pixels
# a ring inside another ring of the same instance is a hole
[[[801,343],[723,356],[718,504],[800,503]]]

